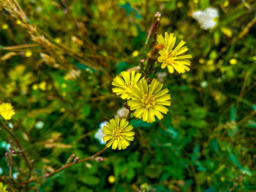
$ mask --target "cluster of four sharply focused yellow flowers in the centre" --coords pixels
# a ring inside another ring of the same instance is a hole
[[[176,43],[176,37],[173,34],[165,33],[165,38],[162,35],[157,36],[157,43],[161,45],[157,61],[164,69],[173,73],[174,70],[178,73],[189,71],[190,61],[187,58],[192,58],[192,55],[181,55],[187,52],[188,48],[183,45],[184,41]],[[112,85],[113,93],[120,96],[121,99],[127,101],[130,112],[133,112],[135,118],[140,118],[147,123],[154,122],[155,116],[159,120],[163,118],[163,114],[168,112],[166,106],[170,106],[170,93],[167,88],[162,89],[163,84],[157,79],[146,79],[139,72],[121,72],[121,77],[114,78]],[[129,118],[129,117],[128,117]],[[133,141],[135,132],[131,131],[132,126],[124,118],[111,119],[106,126],[103,127],[104,142],[107,147],[112,145],[112,149],[126,149],[129,146],[129,141]]]

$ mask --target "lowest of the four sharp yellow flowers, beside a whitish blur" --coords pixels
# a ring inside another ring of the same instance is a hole
[[[133,127],[128,124],[129,122],[124,118],[110,119],[110,122],[103,127],[105,134],[103,141],[108,142],[107,147],[112,145],[113,150],[116,150],[116,147],[118,150],[124,150],[129,146],[127,140],[133,141],[135,132],[131,131]]]

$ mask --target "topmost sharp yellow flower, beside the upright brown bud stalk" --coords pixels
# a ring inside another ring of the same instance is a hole
[[[174,69],[178,73],[189,72],[190,61],[187,58],[192,58],[192,55],[181,55],[185,53],[187,50],[187,46],[182,47],[186,42],[181,40],[178,43],[177,47],[173,49],[176,37],[173,37],[173,34],[167,34],[165,32],[165,39],[161,35],[157,36],[158,44],[162,44],[164,48],[159,50],[159,57],[157,58],[159,63],[162,63],[161,68],[164,69],[167,66],[167,69],[170,73],[174,72]]]

